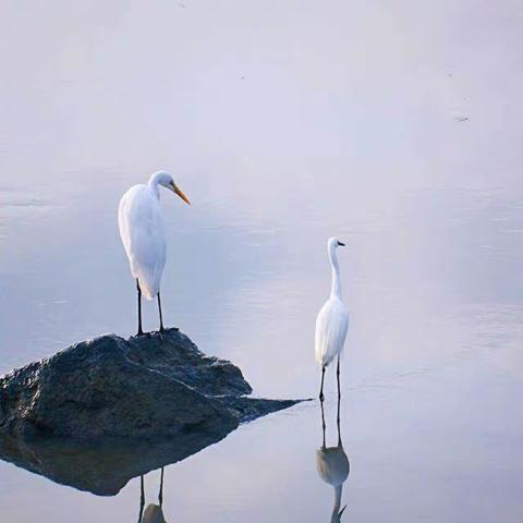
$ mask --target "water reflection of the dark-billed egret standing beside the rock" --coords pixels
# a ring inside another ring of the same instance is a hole
[[[331,523],[339,523],[346,504],[341,508],[341,494],[343,490],[343,483],[349,477],[350,464],[349,458],[343,450],[343,442],[341,441],[340,430],[340,402],[338,399],[338,445],[336,447],[327,447],[326,445],[326,425],[325,425],[325,412],[324,403],[321,406],[321,429],[323,429],[323,442],[321,447],[316,451],[316,469],[319,477],[327,484],[331,485],[335,489],[335,506],[332,508],[332,515],[330,518]]]

